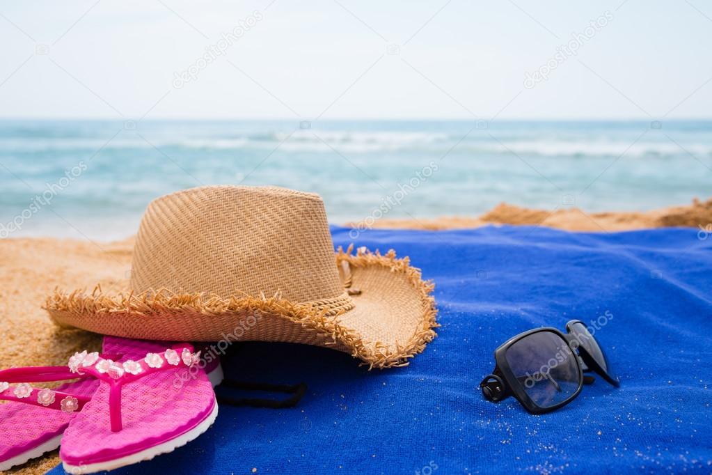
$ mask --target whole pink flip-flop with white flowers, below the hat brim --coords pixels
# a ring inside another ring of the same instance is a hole
[[[205,432],[217,417],[215,393],[199,352],[188,343],[118,339],[122,362],[78,353],[70,370],[100,385],[70,421],[60,449],[70,474],[117,469],[173,451]],[[219,365],[212,371],[218,372]]]

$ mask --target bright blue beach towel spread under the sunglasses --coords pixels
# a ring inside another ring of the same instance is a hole
[[[337,245],[353,241],[332,231]],[[422,355],[368,372],[325,348],[244,343],[228,376],[305,382],[300,404],[221,406],[196,441],[115,473],[712,471],[712,236],[503,226],[372,230],[355,242],[394,248],[436,281],[442,326]],[[541,416],[513,398],[483,400],[498,345],[572,318],[605,322],[596,338],[619,389],[597,377]]]

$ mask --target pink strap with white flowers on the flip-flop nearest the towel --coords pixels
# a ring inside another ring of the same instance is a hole
[[[91,375],[100,381],[107,382],[109,389],[109,415],[112,432],[122,429],[121,390],[124,385],[140,380],[142,377],[160,371],[172,369],[190,369],[197,364],[200,352],[193,353],[192,345],[181,343],[173,345],[160,353],[147,353],[141,360],[126,360],[115,362],[108,358],[90,357],[90,364],[85,365],[89,355],[77,353],[71,362],[70,370],[78,375]],[[84,359],[83,359],[84,355]]]

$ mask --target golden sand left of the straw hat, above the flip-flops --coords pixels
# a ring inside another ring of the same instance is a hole
[[[59,239],[0,241],[2,367],[66,365],[75,351],[100,349],[98,335],[60,329],[41,309],[48,293],[57,286],[91,290],[98,281],[103,288],[119,290],[127,286],[133,239],[99,246]],[[43,474],[58,463],[54,451],[17,472]]]

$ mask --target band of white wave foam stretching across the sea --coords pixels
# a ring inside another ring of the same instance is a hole
[[[278,145],[288,152],[393,152],[419,150],[433,154],[445,153],[451,148],[458,153],[473,156],[518,155],[539,157],[666,157],[692,154],[696,157],[712,156],[712,144],[703,142],[631,140],[502,140],[491,137],[468,137],[437,132],[350,132],[324,130],[297,130],[274,132],[242,137],[178,137],[152,138],[150,142],[130,135],[116,137],[107,144],[105,138],[42,138],[0,139],[0,150],[5,152],[43,152],[47,150],[151,149],[158,147],[188,150],[242,150],[274,149]]]

